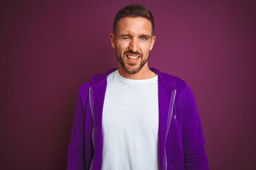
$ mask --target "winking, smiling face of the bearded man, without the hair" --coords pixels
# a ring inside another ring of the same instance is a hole
[[[129,74],[136,74],[147,65],[149,51],[155,36],[151,35],[151,22],[146,18],[124,17],[117,23],[116,35],[111,34],[111,44],[116,50],[119,68]]]

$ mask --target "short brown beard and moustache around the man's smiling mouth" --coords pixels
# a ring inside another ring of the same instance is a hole
[[[122,68],[124,69],[125,72],[129,73],[129,74],[136,74],[137,72],[139,72],[142,67],[144,67],[144,65],[146,64],[146,62],[149,60],[149,56],[146,57],[146,59],[144,60],[144,57],[142,57],[142,62],[140,62],[139,64],[135,64],[135,63],[127,63],[124,61],[124,57],[126,57],[126,53],[130,53],[130,54],[134,54],[134,55],[140,55],[140,57],[142,57],[143,55],[139,52],[132,52],[132,51],[126,51],[124,52],[123,56],[122,55],[117,55],[117,50],[116,50],[116,56],[117,56],[117,60],[118,62],[121,64]]]

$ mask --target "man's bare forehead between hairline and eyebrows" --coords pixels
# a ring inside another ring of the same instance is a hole
[[[151,21],[143,17],[124,17],[117,23],[117,34],[137,33],[151,35]]]

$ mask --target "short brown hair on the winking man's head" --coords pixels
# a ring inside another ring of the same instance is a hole
[[[121,18],[124,17],[143,17],[151,21],[152,26],[152,35],[154,35],[154,18],[152,13],[149,11],[146,6],[141,4],[131,4],[129,6],[124,6],[124,8],[120,9],[117,14],[114,16],[114,23],[113,23],[113,33],[114,35],[117,33],[117,23]]]

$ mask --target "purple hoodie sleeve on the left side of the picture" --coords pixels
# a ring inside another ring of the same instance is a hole
[[[85,108],[82,101],[82,90],[80,88],[75,106],[70,145],[68,146],[68,170],[85,169]]]

